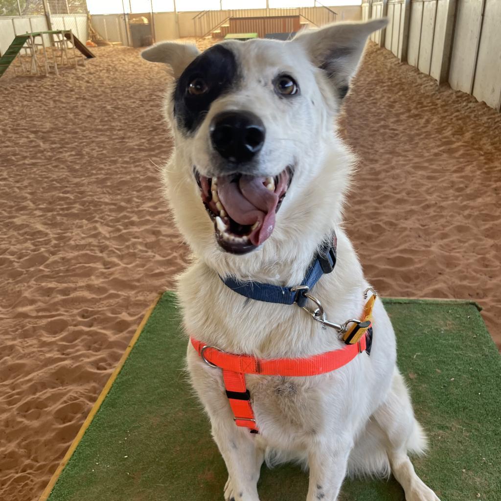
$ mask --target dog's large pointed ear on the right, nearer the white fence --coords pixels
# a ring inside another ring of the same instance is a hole
[[[327,75],[340,98],[348,92],[369,35],[388,24],[386,18],[368,23],[336,23],[306,30],[292,40],[306,48],[310,59]]]

